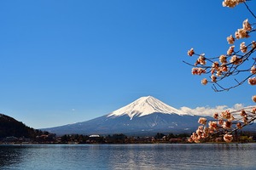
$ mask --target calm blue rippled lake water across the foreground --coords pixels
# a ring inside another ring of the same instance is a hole
[[[256,169],[256,144],[0,145],[0,169]]]

